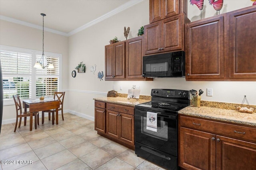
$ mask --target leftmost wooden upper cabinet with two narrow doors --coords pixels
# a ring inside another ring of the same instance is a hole
[[[105,80],[125,78],[125,41],[105,46]]]

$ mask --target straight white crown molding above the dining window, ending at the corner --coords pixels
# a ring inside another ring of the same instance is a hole
[[[28,27],[32,27],[32,28],[43,30],[42,25],[36,25],[36,24],[28,23],[28,22],[16,20],[14,18],[2,16],[2,15],[0,15],[0,20],[5,20],[5,21],[13,22],[13,23],[18,23],[20,25],[25,25],[25,26],[28,26]],[[64,36],[68,36],[67,33],[64,33],[64,32],[61,32],[61,31],[57,31],[55,29],[50,29],[50,28],[47,28],[47,27],[44,27],[44,31],[48,31],[48,32],[52,32],[52,33],[56,33],[56,34],[60,34],[60,35],[64,35]]]

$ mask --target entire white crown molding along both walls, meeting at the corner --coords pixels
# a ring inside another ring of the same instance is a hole
[[[119,6],[118,8],[104,14],[103,16],[100,16],[99,18],[96,18],[95,20],[92,20],[84,25],[82,25],[81,27],[78,27],[77,29],[74,29],[73,31],[70,31],[69,33],[64,33],[61,31],[57,31],[55,29],[50,29],[47,27],[44,27],[44,31],[48,31],[48,32],[52,32],[52,33],[56,33],[56,34],[60,34],[60,35],[64,35],[64,36],[70,36],[70,35],[74,35],[92,25],[95,25],[96,23],[99,23],[100,21],[103,21],[115,14],[118,14],[119,12],[122,12],[123,10],[126,10],[127,8],[130,8],[131,6],[134,6],[140,2],[142,2],[143,0],[130,0],[128,2],[126,2],[125,4]],[[9,21],[9,22],[13,22],[13,23],[18,23],[20,25],[25,25],[28,27],[32,27],[32,28],[36,28],[36,29],[41,29],[42,30],[42,25],[36,25],[36,24],[32,24],[32,23],[28,23],[28,22],[24,22],[24,21],[20,21],[20,20],[16,20],[14,18],[10,18],[10,17],[6,17],[6,16],[2,16],[0,15],[0,20],[5,20],[5,21]]]

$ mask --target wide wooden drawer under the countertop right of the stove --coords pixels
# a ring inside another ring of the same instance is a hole
[[[180,126],[256,143],[256,128],[180,116]]]

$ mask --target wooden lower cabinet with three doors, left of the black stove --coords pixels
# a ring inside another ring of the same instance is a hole
[[[104,111],[95,108],[95,130],[134,150],[134,107],[106,103]]]

